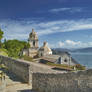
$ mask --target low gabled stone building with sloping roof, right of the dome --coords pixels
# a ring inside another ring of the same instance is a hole
[[[68,52],[62,52],[61,55],[45,55],[40,59],[41,63],[51,62],[55,64],[65,64],[65,65],[76,65],[76,62]]]

